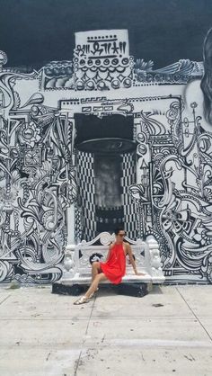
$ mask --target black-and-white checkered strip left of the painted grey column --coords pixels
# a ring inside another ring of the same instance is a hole
[[[80,151],[77,162],[77,180],[82,209],[82,238],[90,241],[96,236],[93,155]]]

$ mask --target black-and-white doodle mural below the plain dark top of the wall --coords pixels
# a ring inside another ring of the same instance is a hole
[[[4,67],[0,281],[53,282],[66,243],[125,223],[154,235],[168,282],[212,282],[212,132],[203,63],[154,70],[127,30],[75,33],[73,61]]]

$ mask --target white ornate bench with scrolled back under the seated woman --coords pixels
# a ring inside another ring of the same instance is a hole
[[[68,285],[87,285],[92,278],[91,258],[93,261],[104,261],[108,253],[111,241],[114,241],[115,235],[108,232],[102,232],[92,241],[83,240],[78,245],[67,245],[64,260],[64,272],[59,282]],[[148,237],[146,242],[141,239],[133,241],[128,237],[125,240],[130,244],[133,255],[136,259],[137,272],[145,275],[136,275],[129,263],[127,256],[126,275],[122,282],[143,282],[143,283],[163,283],[162,263],[160,258],[159,246],[155,238]],[[103,281],[101,283],[110,283]]]

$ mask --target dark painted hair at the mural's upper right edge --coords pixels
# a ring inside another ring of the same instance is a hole
[[[204,75],[201,80],[201,89],[204,95],[204,115],[212,124],[212,29],[208,31],[203,46]]]

